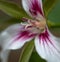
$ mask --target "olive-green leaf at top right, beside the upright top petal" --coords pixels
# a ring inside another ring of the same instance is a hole
[[[45,15],[48,16],[49,12],[54,8],[54,6],[57,4],[58,0],[46,0],[44,2],[44,11]]]

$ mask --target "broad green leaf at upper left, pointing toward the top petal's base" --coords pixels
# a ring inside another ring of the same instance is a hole
[[[18,19],[29,17],[21,7],[12,2],[0,1],[0,10]]]

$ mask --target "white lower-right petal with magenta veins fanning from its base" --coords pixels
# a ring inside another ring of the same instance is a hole
[[[47,62],[60,62],[59,44],[60,39],[54,37],[49,31],[35,38],[36,51]]]

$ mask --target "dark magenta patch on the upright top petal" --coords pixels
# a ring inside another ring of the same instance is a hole
[[[31,7],[30,7],[29,11],[32,15],[36,16],[37,13],[40,13],[43,16],[41,5],[39,6],[38,0],[31,1]]]

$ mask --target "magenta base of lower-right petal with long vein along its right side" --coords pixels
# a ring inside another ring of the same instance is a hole
[[[59,50],[55,47],[55,45],[52,43],[51,39],[49,38],[49,33],[47,30],[44,33],[41,33],[39,35],[39,39],[43,40],[43,44],[44,44],[44,42],[46,42],[46,44],[48,45],[48,42],[49,42],[59,52]],[[47,42],[47,40],[48,40],[48,42]]]

